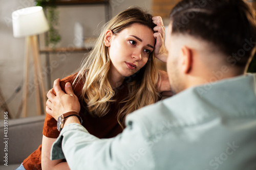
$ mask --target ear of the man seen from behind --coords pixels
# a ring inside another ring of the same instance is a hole
[[[181,47],[181,53],[182,53],[182,71],[184,74],[188,74],[192,68],[192,62],[193,62],[193,53],[190,48],[187,46]]]

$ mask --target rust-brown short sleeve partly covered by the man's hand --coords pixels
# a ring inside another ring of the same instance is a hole
[[[60,87],[65,91],[65,84],[67,82],[72,82],[75,75],[66,77],[60,81]],[[55,91],[53,90],[56,95]],[[46,137],[57,138],[59,136],[59,131],[57,130],[57,121],[49,114],[46,114],[44,128],[42,129],[42,134]]]

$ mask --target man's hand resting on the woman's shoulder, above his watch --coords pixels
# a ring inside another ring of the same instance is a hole
[[[53,89],[47,93],[48,100],[46,102],[46,112],[53,116],[56,120],[58,117],[70,111],[79,113],[80,104],[77,96],[74,94],[71,84],[68,82],[65,85],[65,91],[61,90],[59,85],[60,79],[56,79],[53,84]],[[55,91],[56,95],[53,93]]]

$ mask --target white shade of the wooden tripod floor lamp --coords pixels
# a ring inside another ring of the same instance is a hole
[[[13,36],[37,35],[49,30],[42,7],[28,7],[12,12]]]

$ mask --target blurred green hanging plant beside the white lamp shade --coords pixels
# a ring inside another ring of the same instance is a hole
[[[46,38],[46,45],[55,48],[61,36],[56,29],[58,26],[59,12],[56,7],[56,0],[36,0],[36,6],[44,8],[49,23],[49,31]]]

